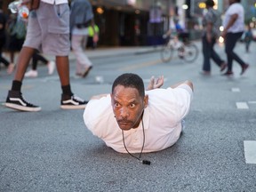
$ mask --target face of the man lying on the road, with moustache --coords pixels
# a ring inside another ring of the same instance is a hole
[[[120,129],[130,130],[139,126],[148,96],[141,98],[137,89],[117,85],[111,94],[111,104]]]

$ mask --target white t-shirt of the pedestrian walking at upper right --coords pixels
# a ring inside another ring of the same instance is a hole
[[[239,3],[231,4],[228,7],[228,10],[225,13],[225,18],[223,20],[223,27],[227,27],[228,21],[230,20],[233,14],[238,14],[238,18],[233,24],[233,26],[228,28],[228,32],[238,33],[244,31],[244,7],[242,6],[242,4]]]

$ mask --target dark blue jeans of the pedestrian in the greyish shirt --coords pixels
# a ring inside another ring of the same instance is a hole
[[[204,35],[202,37],[202,43],[203,43],[203,54],[204,54],[204,64],[203,64],[203,70],[204,71],[211,71],[211,62],[212,59],[219,67],[222,63],[224,63],[224,60],[220,59],[220,56],[215,52],[214,50],[214,44],[216,40],[215,38],[212,38],[211,43],[209,43],[206,39],[206,36]]]

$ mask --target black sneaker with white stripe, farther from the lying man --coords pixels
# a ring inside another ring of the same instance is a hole
[[[20,111],[40,111],[41,108],[24,100],[21,92],[9,91],[6,98],[5,106]]]

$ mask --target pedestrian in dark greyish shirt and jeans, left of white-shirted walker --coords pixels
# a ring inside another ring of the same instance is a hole
[[[219,54],[214,50],[214,45],[220,36],[220,12],[213,9],[213,0],[206,0],[205,4],[207,12],[203,18],[204,33],[202,44],[204,63],[202,74],[209,76],[211,75],[211,59],[220,67],[220,72],[227,68],[227,63],[220,59]]]

